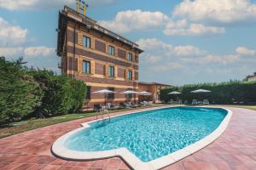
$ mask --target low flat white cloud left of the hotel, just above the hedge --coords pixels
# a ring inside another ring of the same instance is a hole
[[[41,47],[29,47],[29,48],[0,48],[0,55],[7,58],[14,58],[23,56],[25,58],[40,58],[43,56],[55,56],[55,48]]]

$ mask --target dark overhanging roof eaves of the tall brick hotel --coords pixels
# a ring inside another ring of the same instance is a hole
[[[61,50],[63,48],[63,43],[65,41],[65,35],[63,35],[63,31],[66,29],[65,25],[67,24],[67,20],[73,20],[76,23],[86,27],[87,29],[99,32],[107,37],[113,38],[117,42],[124,43],[131,49],[134,49],[139,54],[143,53],[143,50],[138,48],[139,46],[135,42],[131,42],[130,40],[122,37],[113,31],[104,28],[97,24],[96,20],[90,19],[88,16],[84,14],[80,14],[79,12],[75,11],[73,8],[69,8],[67,6],[59,13],[59,27],[58,27],[58,52],[57,54],[61,55]],[[64,29],[64,30],[63,30]],[[64,31],[65,32],[65,31]]]

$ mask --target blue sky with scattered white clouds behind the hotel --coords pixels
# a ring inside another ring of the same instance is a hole
[[[144,50],[139,81],[242,80],[256,71],[256,0],[87,0],[87,15]],[[0,0],[0,55],[60,72],[59,11],[75,0]]]

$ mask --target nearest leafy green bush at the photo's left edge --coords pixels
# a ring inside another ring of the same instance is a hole
[[[0,123],[20,121],[41,105],[42,91],[38,82],[26,75],[22,58],[18,62],[0,58]]]

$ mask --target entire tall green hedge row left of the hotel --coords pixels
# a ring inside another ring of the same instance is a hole
[[[81,110],[86,94],[84,82],[22,64],[22,59],[10,62],[0,58],[0,125]]]

